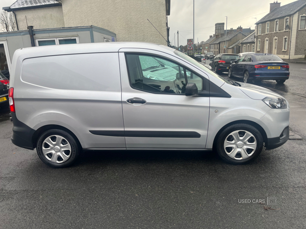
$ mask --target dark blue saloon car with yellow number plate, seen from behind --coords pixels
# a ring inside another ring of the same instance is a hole
[[[228,77],[243,77],[246,83],[263,79],[284,83],[289,75],[288,63],[277,55],[264,53],[245,54],[228,69]]]

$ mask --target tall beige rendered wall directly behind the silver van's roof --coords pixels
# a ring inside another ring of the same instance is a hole
[[[165,0],[62,0],[65,26],[95,25],[114,32],[117,41],[167,42]]]

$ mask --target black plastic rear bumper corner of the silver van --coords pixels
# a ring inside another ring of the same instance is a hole
[[[20,122],[16,117],[16,113],[11,112],[11,116],[13,121],[13,136],[11,140],[13,144],[24,149],[34,150],[32,137],[35,130]]]

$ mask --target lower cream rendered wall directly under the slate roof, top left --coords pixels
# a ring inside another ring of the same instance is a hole
[[[32,10],[18,10],[15,11],[18,29],[27,30],[27,16],[28,25],[33,25],[34,29],[38,28],[59,28],[65,27],[62,7],[46,7]]]

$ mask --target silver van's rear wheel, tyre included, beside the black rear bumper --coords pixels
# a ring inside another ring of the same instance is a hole
[[[64,168],[77,161],[81,146],[70,133],[52,129],[40,135],[36,150],[45,164],[53,168]]]

